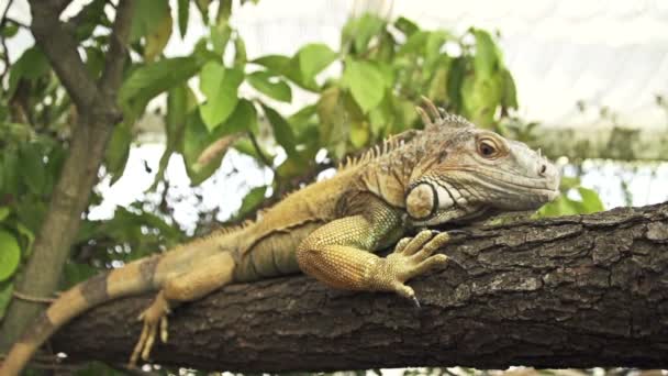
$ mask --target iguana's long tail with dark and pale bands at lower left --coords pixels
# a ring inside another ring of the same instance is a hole
[[[19,375],[40,346],[78,314],[105,301],[159,290],[167,275],[187,268],[197,254],[211,254],[216,250],[207,240],[198,240],[100,274],[63,292],[14,343],[2,362],[0,376]]]

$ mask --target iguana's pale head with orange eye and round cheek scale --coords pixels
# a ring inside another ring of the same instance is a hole
[[[405,206],[415,225],[534,210],[559,195],[559,172],[521,142],[443,114],[431,102],[423,157],[411,174]]]

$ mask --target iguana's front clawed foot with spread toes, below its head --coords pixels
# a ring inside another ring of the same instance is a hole
[[[421,231],[414,237],[404,237],[394,247],[394,252],[376,265],[370,274],[372,287],[379,290],[394,291],[411,299],[420,307],[415,291],[404,283],[434,267],[442,267],[448,257],[434,252],[445,245],[449,235],[445,232]]]

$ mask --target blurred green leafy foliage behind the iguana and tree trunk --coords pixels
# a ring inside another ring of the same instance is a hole
[[[235,7],[246,2],[241,0]],[[245,155],[255,168],[270,170],[269,185],[238,192],[245,195],[242,206],[225,219],[236,222],[313,181],[346,156],[388,135],[422,128],[414,107],[423,96],[509,137],[532,142],[539,132],[536,123],[516,115],[513,75],[493,32],[470,27],[454,34],[427,30],[401,16],[387,20],[365,13],[343,27],[336,49],[313,43],[291,56],[249,58],[243,35],[230,22],[232,10],[232,1],[136,1],[132,59],[119,92],[124,120],[114,130],[99,178],[113,184],[123,176],[131,148],[138,143],[136,124],[153,111],[149,103],[155,100],[165,103],[157,112],[165,151],[147,196],[118,207],[108,219],[84,213],[63,289],[100,269],[122,266],[192,235],[175,221],[166,199],[165,170],[172,156],[182,158],[191,195],[199,200],[197,187],[220,168],[229,153]],[[208,33],[189,54],[166,57],[167,42],[186,34],[192,11],[208,25]],[[103,68],[113,13],[113,2],[92,0],[68,22],[94,77]],[[37,46],[10,62],[5,42],[26,25],[7,16],[0,22],[4,47],[0,53],[1,319],[13,297],[12,280],[30,257],[49,206],[77,113]],[[293,103],[298,91],[309,92],[313,100],[286,113],[281,103]],[[243,176],[245,170],[230,174]],[[564,195],[537,215],[603,210],[597,192],[582,187],[577,176],[565,178]],[[90,208],[102,199],[96,190]],[[200,212],[194,233],[218,225],[215,215]],[[101,373],[114,372],[99,364],[78,371],[81,375]]]

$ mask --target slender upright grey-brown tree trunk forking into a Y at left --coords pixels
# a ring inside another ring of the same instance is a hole
[[[67,159],[51,199],[32,257],[21,273],[16,290],[35,297],[53,294],[60,270],[79,229],[81,212],[88,207],[92,187],[113,125],[121,119],[116,91],[121,86],[125,45],[130,33],[134,0],[120,1],[102,77],[96,81],[86,68],[78,46],[59,21],[68,0],[31,1],[31,31],[48,57],[58,78],[76,104]],[[42,305],[14,299],[0,328],[0,351],[7,351],[40,312]]]

